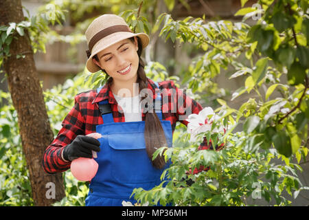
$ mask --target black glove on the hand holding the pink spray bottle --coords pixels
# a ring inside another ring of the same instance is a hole
[[[92,151],[100,151],[100,142],[94,137],[77,135],[62,151],[63,159],[72,161],[78,157],[92,158]]]

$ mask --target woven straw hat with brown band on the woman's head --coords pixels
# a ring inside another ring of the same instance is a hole
[[[93,63],[93,56],[105,48],[133,36],[138,36],[141,39],[143,49],[149,43],[149,36],[147,34],[134,34],[126,21],[115,14],[103,14],[96,18],[89,25],[85,34],[89,47],[87,51],[88,60],[86,67],[89,72],[92,73],[100,70],[100,67]]]

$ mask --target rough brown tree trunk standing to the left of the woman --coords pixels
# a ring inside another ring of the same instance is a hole
[[[1,0],[0,25],[23,21],[21,0]],[[15,34],[10,44],[10,54],[3,59],[3,69],[8,76],[8,88],[17,111],[23,153],[27,161],[35,206],[50,206],[65,197],[62,174],[49,175],[42,166],[45,148],[54,135],[49,124],[43,89],[34,65],[30,37]],[[25,55],[16,58],[17,54]],[[54,191],[53,191],[54,190]]]

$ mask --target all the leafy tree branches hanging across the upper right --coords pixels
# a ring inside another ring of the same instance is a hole
[[[245,1],[242,2],[242,5],[244,3]],[[297,113],[303,112],[306,115],[308,111],[306,104],[301,105],[308,100],[306,91],[309,87],[309,50],[306,34],[301,32],[301,30],[307,30],[308,16],[304,13],[304,5],[301,2],[282,0],[275,1],[272,4],[262,1],[259,1],[259,3],[262,5],[264,14],[253,27],[244,23],[231,23],[230,21],[209,21],[205,23],[200,18],[190,21],[192,20],[191,17],[187,17],[183,21],[174,21],[170,14],[161,14],[156,25],[163,23],[160,36],[163,36],[164,39],[170,38],[173,42],[179,39],[180,43],[194,43],[205,50],[205,54],[192,63],[194,68],[190,69],[189,67],[189,72],[184,79],[184,83],[187,83],[193,91],[196,91],[201,84],[205,83],[205,78],[214,78],[220,74],[220,68],[226,69],[227,65],[233,65],[238,69],[238,72],[230,78],[248,74],[244,87],[232,95],[232,100],[246,91],[250,93],[251,90],[258,94],[260,100],[258,100],[258,105],[255,105],[254,109],[249,103],[242,105],[238,113],[240,117],[237,118],[236,122],[242,124],[251,115],[254,115],[254,119],[261,119],[246,121],[247,124],[245,123],[244,129],[246,130],[249,126],[249,131],[247,131],[249,137],[252,137],[254,133],[254,129],[250,129],[252,123],[255,123],[254,127],[259,125],[260,128],[263,128],[256,133],[261,135],[264,135],[267,126],[275,126],[277,131],[281,131],[290,124],[290,129],[284,129],[285,131],[279,133],[273,140],[277,148],[286,148],[280,152],[284,152],[284,155],[289,157],[301,146],[299,140],[307,139],[305,132],[307,126],[301,128],[303,135],[299,137],[294,129],[294,118]],[[236,14],[245,15],[253,10],[255,9],[243,8]],[[279,13],[279,16],[277,13]],[[282,17],[286,19],[286,22],[283,26],[279,26],[278,23],[283,23],[282,20],[279,20]],[[302,25],[303,20],[305,21],[304,25]],[[254,51],[258,53],[260,58],[253,67],[245,67],[237,61],[236,58],[240,53],[246,52],[246,58],[253,63],[250,54]],[[282,76],[286,75],[288,85],[283,87],[286,91],[283,97],[264,102],[259,88],[262,85],[267,87],[267,84],[274,83],[275,86],[271,85],[273,87],[267,91],[266,96],[269,98],[275,89],[282,88],[277,87],[277,82],[283,80]],[[303,109],[301,109],[301,106]],[[244,119],[240,120],[241,114],[246,110],[250,110],[251,113],[244,115]],[[308,118],[304,118],[304,120],[307,121]],[[289,143],[292,138],[299,143],[294,142],[293,152],[289,150],[291,148]],[[288,144],[282,146],[279,144],[282,141],[286,141]]]

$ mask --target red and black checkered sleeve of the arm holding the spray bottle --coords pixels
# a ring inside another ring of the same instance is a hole
[[[43,168],[46,173],[64,172],[70,168],[71,162],[62,159],[62,151],[77,135],[84,135],[84,122],[80,111],[78,96],[71,111],[62,121],[62,128],[58,132],[52,144],[47,146],[43,155]]]

